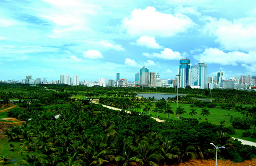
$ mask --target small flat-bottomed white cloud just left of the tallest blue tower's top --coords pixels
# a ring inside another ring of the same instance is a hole
[[[142,55],[146,56],[146,57],[151,57],[151,58],[162,58],[162,59],[168,59],[168,60],[179,60],[181,58],[183,58],[181,56],[180,52],[177,51],[172,51],[172,49],[169,48],[165,48],[163,51],[161,51],[161,53],[142,53]]]

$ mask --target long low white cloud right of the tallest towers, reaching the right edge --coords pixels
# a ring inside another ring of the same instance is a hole
[[[218,48],[209,48],[197,56],[195,59],[201,60],[206,64],[222,64],[222,65],[233,65],[236,66],[237,63],[253,64],[256,63],[256,52],[224,52]]]

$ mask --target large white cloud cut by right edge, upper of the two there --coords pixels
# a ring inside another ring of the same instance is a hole
[[[225,50],[229,51],[256,51],[256,18],[242,19],[215,19],[204,17],[206,21],[203,32],[217,37]]]

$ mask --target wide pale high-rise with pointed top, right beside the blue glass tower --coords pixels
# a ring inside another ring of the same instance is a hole
[[[201,61],[198,65],[191,66],[189,77],[192,88],[206,89],[207,65]]]

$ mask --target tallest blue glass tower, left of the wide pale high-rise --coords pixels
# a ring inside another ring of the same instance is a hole
[[[180,69],[179,69],[179,87],[186,88],[189,85],[189,73],[190,73],[190,60],[181,59],[180,60]]]

